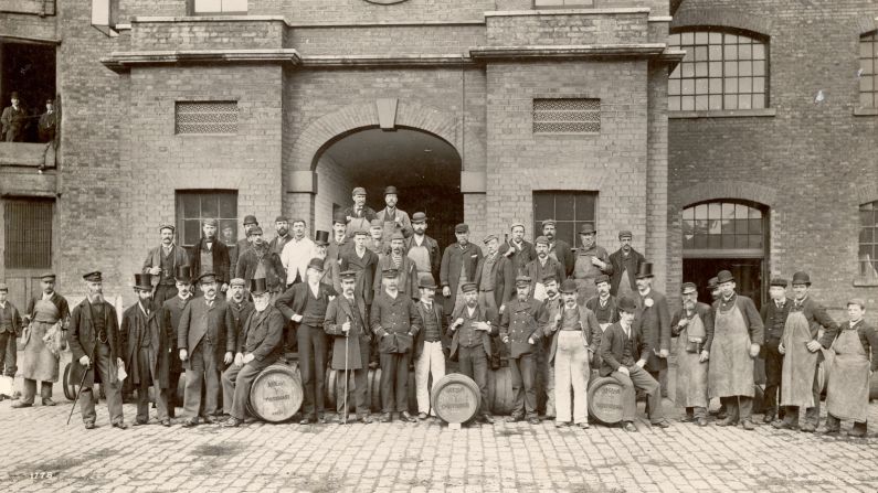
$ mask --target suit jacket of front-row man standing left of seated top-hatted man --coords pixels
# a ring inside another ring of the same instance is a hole
[[[177,334],[177,347],[187,350],[189,353],[189,360],[183,362],[186,369],[190,369],[192,354],[205,336],[213,341],[213,351],[218,362],[222,361],[224,353],[234,353],[236,349],[232,310],[229,308],[229,303],[219,296],[213,299],[213,307],[209,308],[208,301],[201,297],[191,300],[183,308]]]

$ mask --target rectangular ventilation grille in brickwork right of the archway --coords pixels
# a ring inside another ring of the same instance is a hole
[[[600,131],[600,99],[533,99],[533,133],[596,133]]]

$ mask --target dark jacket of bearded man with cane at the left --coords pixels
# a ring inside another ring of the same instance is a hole
[[[116,309],[106,301],[101,302],[104,308],[104,328],[107,332],[107,343],[109,344],[109,367],[113,372],[116,371],[116,358],[121,357],[124,349],[121,334],[119,333],[119,321],[116,318]],[[95,347],[97,346],[97,331],[95,331],[94,322],[92,321],[92,304],[88,298],[84,299],[80,304],[74,307],[73,314],[70,318],[70,349],[73,354],[71,366],[71,379],[80,382],[84,368],[80,365],[80,358],[88,356],[91,361],[95,361]],[[94,363],[92,364],[94,368]],[[84,387],[91,387],[95,382],[101,382],[97,372],[88,372]]]

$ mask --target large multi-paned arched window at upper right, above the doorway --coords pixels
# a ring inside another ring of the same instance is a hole
[[[668,109],[759,109],[769,105],[766,42],[740,33],[686,31],[669,47],[686,57],[668,79]]]

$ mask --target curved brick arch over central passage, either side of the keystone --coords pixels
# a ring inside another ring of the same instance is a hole
[[[395,125],[435,135],[462,156],[455,114],[411,100],[399,100]],[[309,124],[293,147],[290,163],[295,171],[314,171],[320,153],[339,138],[358,130],[379,128],[374,101],[348,105]]]

